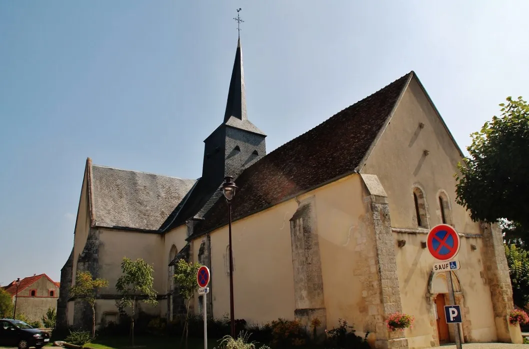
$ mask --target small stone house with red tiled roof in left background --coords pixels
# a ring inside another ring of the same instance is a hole
[[[13,303],[16,297],[16,313],[24,313],[31,320],[40,321],[49,308],[57,309],[60,282],[46,274],[23,278],[18,289],[16,280],[2,288],[12,296]]]

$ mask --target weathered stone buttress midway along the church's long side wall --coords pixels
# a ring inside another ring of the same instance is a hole
[[[311,196],[299,203],[290,219],[296,301],[294,317],[307,331],[314,317],[321,320],[322,331],[327,326],[315,211],[314,196]]]

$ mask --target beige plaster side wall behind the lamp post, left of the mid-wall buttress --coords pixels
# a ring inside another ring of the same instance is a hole
[[[294,200],[232,224],[235,318],[262,323],[279,317],[294,319],[294,276],[289,219]],[[226,207],[227,213],[227,207]],[[230,313],[228,227],[211,234],[213,316]],[[198,261],[204,236],[193,241],[192,258]],[[273,295],[273,297],[271,296]],[[194,299],[198,312],[198,297]]]

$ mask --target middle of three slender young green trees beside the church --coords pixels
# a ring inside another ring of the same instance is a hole
[[[123,257],[121,262],[122,275],[116,282],[116,290],[121,295],[121,299],[116,300],[116,305],[121,311],[127,307],[132,308],[132,346],[134,346],[134,315],[136,304],[139,301],[152,306],[158,304],[156,300],[157,292],[152,287],[154,281],[152,277],[153,271],[149,263],[141,258],[133,261],[127,257]]]

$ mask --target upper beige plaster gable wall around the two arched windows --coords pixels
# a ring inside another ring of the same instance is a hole
[[[419,125],[421,122],[423,128]],[[455,203],[453,175],[461,158],[441,119],[413,78],[361,172],[376,174],[384,186],[392,227],[417,229],[413,188],[419,186],[426,200],[426,229],[441,223],[439,195],[444,192],[455,229],[460,233],[479,234],[479,223],[472,222],[466,210]]]

